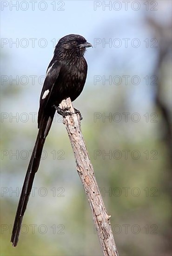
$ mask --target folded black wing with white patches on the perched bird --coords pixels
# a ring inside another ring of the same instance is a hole
[[[60,63],[58,61],[51,61],[47,68],[46,79],[44,81],[44,85],[40,94],[40,108],[38,112],[38,128],[40,128],[42,118],[44,117],[44,110],[52,94],[54,84],[58,79],[60,68],[61,68]]]

